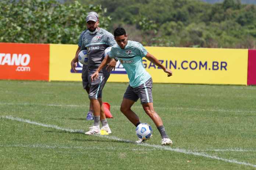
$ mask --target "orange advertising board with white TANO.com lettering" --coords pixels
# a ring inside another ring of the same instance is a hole
[[[0,43],[0,79],[49,81],[49,44]]]

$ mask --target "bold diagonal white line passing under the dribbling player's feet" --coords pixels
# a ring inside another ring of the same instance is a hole
[[[43,123],[38,123],[38,122],[34,122],[34,121],[30,121],[28,119],[22,119],[22,118],[15,118],[12,116],[2,116],[0,118],[5,118],[5,119],[10,119],[10,120],[14,120],[14,121],[19,121],[19,122],[26,122],[26,123],[30,123],[33,125],[38,125],[38,126],[43,126],[43,127],[50,127],[53,129],[58,129],[58,130],[64,130],[67,132],[77,132],[77,133],[83,133],[83,130],[81,129],[70,129],[70,128],[63,128],[63,127],[58,127],[56,125],[47,125],[47,124],[43,124]],[[118,138],[115,136],[106,136],[106,135],[98,135],[99,137],[106,137],[110,140],[117,140],[117,141],[122,141],[122,142],[126,142],[126,143],[134,143],[133,141],[129,141],[129,140],[124,140],[122,138]],[[195,156],[202,156],[205,158],[210,158],[210,159],[217,159],[217,160],[222,160],[224,162],[229,162],[229,163],[235,163],[235,164],[239,164],[239,165],[246,165],[246,166],[252,166],[256,168],[256,165],[250,164],[250,163],[246,163],[246,162],[240,162],[238,160],[234,160],[234,159],[225,159],[225,158],[220,158],[218,156],[211,156],[211,155],[207,155],[205,153],[200,153],[200,152],[193,152],[193,151],[188,151],[185,149],[179,149],[179,148],[171,148],[168,146],[160,146],[160,145],[150,145],[150,144],[140,144],[142,146],[146,146],[146,147],[153,147],[153,148],[157,148],[157,149],[162,149],[162,150],[167,150],[167,151],[173,151],[173,152],[179,152],[179,153],[183,153],[183,154],[188,154],[188,155],[195,155]]]

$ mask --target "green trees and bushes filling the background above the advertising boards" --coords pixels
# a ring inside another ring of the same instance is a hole
[[[7,4],[7,5],[6,5]],[[256,48],[256,5],[239,0],[1,0],[0,41],[77,44],[88,12],[148,46]]]

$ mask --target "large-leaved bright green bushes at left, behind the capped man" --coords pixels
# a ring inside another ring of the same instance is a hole
[[[110,17],[101,5],[59,3],[56,0],[1,0],[0,41],[77,44],[86,29],[88,12],[100,15],[100,26],[109,26]]]

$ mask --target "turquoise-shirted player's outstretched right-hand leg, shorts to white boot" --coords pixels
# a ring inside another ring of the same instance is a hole
[[[138,92],[138,96],[141,98],[141,104],[144,111],[152,119],[152,121],[154,122],[154,124],[156,125],[157,129],[161,134],[161,137],[162,137],[161,144],[164,144],[164,145],[173,144],[173,141],[170,140],[170,138],[166,133],[162,119],[157,114],[157,112],[154,111],[152,88],[153,88],[153,82],[152,82],[152,78],[150,78],[143,85],[136,88],[135,91],[136,93]]]

